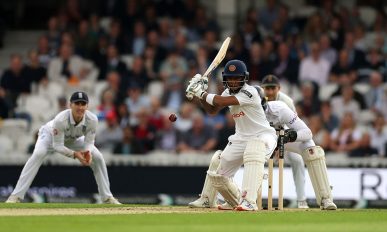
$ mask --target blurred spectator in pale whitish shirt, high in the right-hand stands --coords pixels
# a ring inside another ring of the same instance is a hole
[[[313,42],[310,45],[310,55],[301,61],[299,81],[314,81],[319,86],[328,82],[330,64],[320,57],[320,45]]]

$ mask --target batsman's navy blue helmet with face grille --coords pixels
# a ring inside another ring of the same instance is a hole
[[[243,87],[243,85],[249,80],[249,72],[247,72],[247,68],[245,63],[240,60],[230,60],[227,62],[226,66],[224,66],[224,71],[222,72],[223,77],[223,85],[225,88],[228,88],[230,93],[238,93],[239,90]],[[241,77],[240,80],[233,80],[232,82],[239,82],[238,85],[231,84],[231,77]]]

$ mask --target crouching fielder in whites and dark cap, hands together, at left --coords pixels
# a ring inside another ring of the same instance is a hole
[[[98,118],[87,110],[88,104],[89,97],[86,93],[73,93],[70,98],[70,109],[60,112],[39,129],[34,152],[24,165],[15,189],[6,203],[21,202],[44,159],[57,152],[68,158],[77,159],[84,166],[90,166],[103,203],[121,204],[110,191],[105,160],[94,145]]]

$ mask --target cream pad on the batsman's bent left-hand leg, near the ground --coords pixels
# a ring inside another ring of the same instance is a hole
[[[217,174],[216,172],[207,172],[212,186],[222,194],[224,200],[230,204],[233,208],[239,204],[240,193],[238,186],[232,181],[231,178]]]

